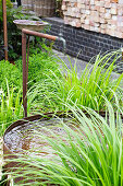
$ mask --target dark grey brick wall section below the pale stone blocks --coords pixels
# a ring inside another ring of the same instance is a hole
[[[66,54],[89,61],[99,53],[115,50],[123,47],[123,39],[112,37],[107,34],[86,31],[79,27],[73,27],[64,24],[62,19],[44,19],[51,24],[48,32],[51,35],[59,35],[61,32],[66,40]],[[56,48],[63,51],[62,43],[56,43]],[[120,62],[119,72],[123,72],[123,62]]]

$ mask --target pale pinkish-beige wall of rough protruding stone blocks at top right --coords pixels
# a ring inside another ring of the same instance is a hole
[[[63,0],[64,23],[123,38],[123,0]]]

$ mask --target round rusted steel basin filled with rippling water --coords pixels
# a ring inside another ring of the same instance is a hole
[[[41,149],[42,153],[39,155],[44,155],[47,159],[52,159],[53,153],[51,151],[51,148],[46,143],[46,141],[39,141],[34,136],[30,137],[30,132],[33,133],[33,130],[39,130],[39,127],[50,127],[52,131],[57,132],[57,135],[64,136],[64,130],[62,127],[58,127],[61,119],[65,119],[65,121],[71,120],[71,117],[66,117],[65,114],[62,114],[59,112],[56,116],[53,113],[45,114],[44,117],[41,115],[35,115],[30,117],[26,117],[24,119],[17,120],[5,130],[3,136],[3,154],[4,154],[4,171],[10,172],[14,171],[16,167],[24,167],[25,164],[21,165],[15,160],[20,156],[19,154],[24,153],[25,151],[28,152],[27,154],[33,154],[36,152],[36,149]],[[38,124],[38,125],[37,125]],[[42,129],[44,130],[44,129]],[[39,130],[40,132],[41,130]],[[47,132],[42,135],[48,135]],[[41,133],[40,133],[41,135]],[[49,152],[46,150],[49,148]],[[35,150],[35,152],[32,151]],[[30,151],[29,151],[30,150]],[[8,162],[9,160],[14,160],[12,162]],[[20,173],[21,175],[21,173]],[[17,177],[14,179],[14,183],[19,183],[20,181],[23,181],[23,177]],[[34,181],[27,181],[27,183],[34,182]]]

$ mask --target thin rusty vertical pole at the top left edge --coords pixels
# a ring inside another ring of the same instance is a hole
[[[2,0],[4,57],[8,60],[7,0]]]

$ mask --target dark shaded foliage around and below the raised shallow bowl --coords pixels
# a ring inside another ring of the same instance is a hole
[[[22,33],[17,30],[16,25],[13,23],[14,20],[40,20],[35,14],[30,14],[27,11],[23,11],[22,7],[17,9],[8,9],[8,40],[9,40],[9,59],[16,59],[22,54]],[[1,16],[2,18],[2,14]],[[0,43],[3,45],[3,23],[0,20]]]

